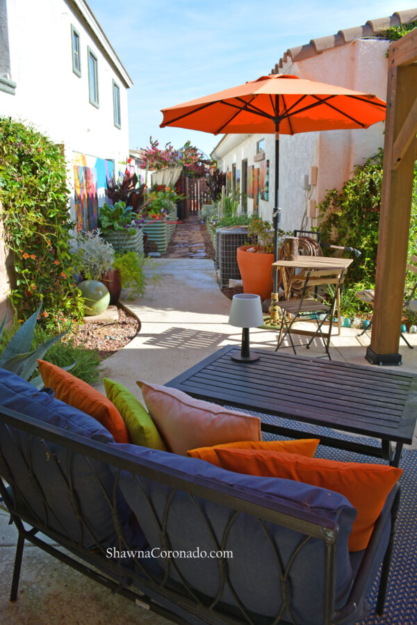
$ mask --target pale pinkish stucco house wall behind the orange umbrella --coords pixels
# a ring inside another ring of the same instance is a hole
[[[329,49],[306,58],[300,63],[287,63],[281,70],[284,74],[295,74],[300,78],[317,80],[329,84],[347,87],[366,93],[373,93],[386,99],[386,79],[388,58],[386,50],[389,42],[384,40],[357,40],[351,44]],[[310,138],[311,137],[311,138]],[[316,143],[316,162],[310,160],[310,154],[301,143],[300,156],[298,143],[306,138]],[[310,138],[310,139],[309,139]],[[289,145],[293,145],[293,154],[287,159]],[[366,161],[384,145],[384,122],[373,124],[368,129],[325,131],[306,133],[294,137],[282,137],[280,167],[282,176],[291,179],[291,170],[309,173],[311,165],[318,166],[317,186],[312,198],[322,202],[330,188],[342,188],[352,175],[355,165]],[[285,155],[285,158],[282,158]],[[281,174],[280,174],[281,178]],[[301,179],[301,176],[299,177]],[[283,207],[284,223],[286,206],[291,202],[291,189],[283,182],[280,203]],[[310,192],[309,192],[310,193]],[[300,203],[295,202],[295,214],[299,214]],[[316,220],[309,220],[309,225],[316,225]],[[284,226],[283,226],[284,227]]]

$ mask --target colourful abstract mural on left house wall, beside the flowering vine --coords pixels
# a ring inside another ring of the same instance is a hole
[[[113,161],[74,153],[74,201],[76,229],[95,230],[99,226],[99,206],[106,202],[105,189],[113,178]]]

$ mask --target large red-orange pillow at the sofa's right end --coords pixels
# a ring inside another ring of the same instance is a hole
[[[358,511],[349,551],[366,548],[386,496],[402,473],[402,469],[388,464],[336,462],[277,451],[215,448],[215,453],[222,469],[296,480],[344,495]]]

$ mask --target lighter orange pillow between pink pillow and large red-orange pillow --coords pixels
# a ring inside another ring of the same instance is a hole
[[[216,466],[220,466],[215,449],[264,449],[265,451],[285,451],[286,453],[299,453],[302,456],[312,458],[316,452],[320,439],[299,439],[295,441],[238,441],[225,443],[213,447],[197,447],[187,452],[188,456],[206,460]]]

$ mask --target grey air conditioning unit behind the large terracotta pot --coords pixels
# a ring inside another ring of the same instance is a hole
[[[229,226],[215,232],[217,241],[216,268],[220,270],[220,286],[229,286],[229,279],[240,280],[236,250],[247,245],[247,226]]]

